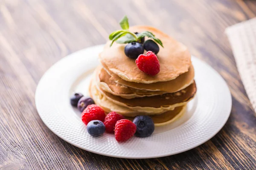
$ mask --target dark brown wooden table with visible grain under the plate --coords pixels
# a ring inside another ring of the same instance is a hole
[[[227,81],[232,112],[208,142],[174,156],[118,159],[74,147],[41,121],[34,98],[44,72],[105,43],[125,14],[130,25],[151,25],[183,42]],[[0,170],[255,170],[256,117],[224,34],[255,16],[253,0],[0,0]]]

